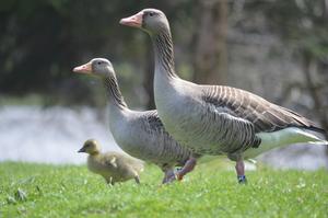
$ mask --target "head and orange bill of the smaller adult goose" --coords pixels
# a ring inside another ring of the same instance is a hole
[[[84,65],[75,67],[73,72],[94,74],[101,78],[115,77],[112,62],[105,58],[94,58]]]

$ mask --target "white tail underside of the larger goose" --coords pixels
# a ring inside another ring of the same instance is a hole
[[[261,138],[261,144],[258,148],[249,148],[244,153],[245,159],[255,158],[266,151],[274,148],[285,147],[292,144],[313,144],[313,145],[328,145],[328,141],[323,140],[303,129],[296,127],[285,128],[273,133],[257,134]]]

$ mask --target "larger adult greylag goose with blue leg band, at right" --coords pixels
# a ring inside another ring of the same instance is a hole
[[[165,129],[194,152],[227,154],[236,161],[239,183],[246,182],[245,158],[290,144],[327,142],[306,131],[324,133],[313,122],[256,94],[180,79],[175,72],[169,24],[162,11],[144,9],[120,23],[141,28],[151,37],[154,97]]]

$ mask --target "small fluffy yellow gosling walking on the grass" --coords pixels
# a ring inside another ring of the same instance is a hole
[[[113,151],[102,153],[99,144],[94,139],[86,140],[78,152],[89,153],[89,170],[102,175],[108,184],[114,185],[131,179],[140,183],[139,173],[143,170],[140,160]]]

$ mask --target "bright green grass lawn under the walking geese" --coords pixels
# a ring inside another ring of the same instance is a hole
[[[327,171],[247,175],[238,185],[233,171],[211,161],[184,182],[160,185],[160,170],[148,165],[141,185],[112,187],[84,165],[3,162],[0,217],[328,217]]]

